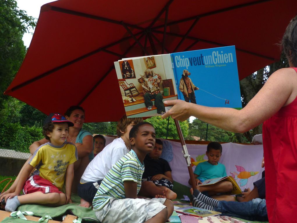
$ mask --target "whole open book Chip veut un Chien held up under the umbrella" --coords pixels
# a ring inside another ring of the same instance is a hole
[[[167,112],[165,100],[241,109],[235,46],[140,56],[114,62],[126,115]]]

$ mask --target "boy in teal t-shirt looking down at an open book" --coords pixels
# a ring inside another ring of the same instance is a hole
[[[207,145],[206,156],[208,161],[198,164],[194,170],[194,177],[196,181],[197,189],[207,196],[218,200],[234,201],[233,196],[222,195],[221,193],[230,193],[233,189],[230,181],[220,181],[216,184],[199,186],[204,180],[226,177],[225,165],[219,163],[219,159],[222,156],[222,145],[218,142],[210,142]],[[190,184],[190,180],[189,180]],[[220,193],[220,195],[217,195]]]

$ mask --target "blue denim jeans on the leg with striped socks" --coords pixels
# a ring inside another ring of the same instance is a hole
[[[218,208],[214,209],[230,217],[250,221],[268,221],[265,199],[256,198],[248,202],[219,201]]]

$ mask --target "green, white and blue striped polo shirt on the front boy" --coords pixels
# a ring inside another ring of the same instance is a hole
[[[137,194],[141,186],[144,165],[140,163],[136,153],[131,150],[111,167],[93,200],[94,211],[103,208],[110,198],[125,199],[124,181],[137,182]]]

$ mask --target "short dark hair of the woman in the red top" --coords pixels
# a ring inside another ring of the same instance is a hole
[[[297,67],[297,16],[287,26],[280,45],[289,62]]]

